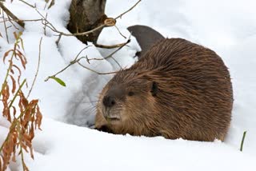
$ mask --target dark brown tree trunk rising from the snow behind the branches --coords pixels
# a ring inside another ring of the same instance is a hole
[[[106,0],[72,0],[70,5],[70,22],[67,29],[71,33],[82,33],[93,30],[101,26],[106,19],[105,14]],[[92,34],[77,36],[77,38],[86,42],[97,42],[101,30]]]

